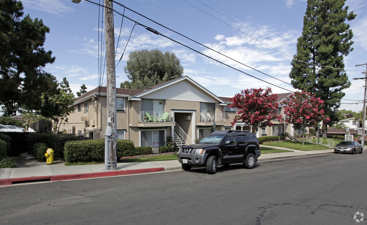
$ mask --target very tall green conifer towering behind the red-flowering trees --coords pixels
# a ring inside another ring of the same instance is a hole
[[[324,100],[323,109],[330,117],[329,122],[323,121],[324,137],[327,125],[338,121],[336,111],[345,95],[342,90],[350,86],[343,60],[353,50],[353,33],[345,20],[353,20],[356,14],[348,14],[348,6],[344,4],[344,0],[308,1],[302,36],[298,38],[289,74],[294,88],[307,90]]]

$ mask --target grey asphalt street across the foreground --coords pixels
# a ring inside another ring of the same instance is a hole
[[[0,187],[0,224],[367,224],[366,168],[330,154]]]

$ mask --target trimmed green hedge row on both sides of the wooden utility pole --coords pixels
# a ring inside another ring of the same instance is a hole
[[[152,147],[149,152],[152,152]],[[141,155],[135,150],[134,142],[130,140],[117,140],[117,158],[132,155]],[[67,141],[64,147],[65,161],[72,162],[103,162],[105,160],[105,140],[83,140],[83,141]],[[149,153],[144,153],[146,155]]]

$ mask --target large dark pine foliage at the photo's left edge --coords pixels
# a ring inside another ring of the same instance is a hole
[[[57,88],[56,78],[43,70],[55,61],[42,47],[48,32],[42,19],[23,16],[21,1],[0,1],[0,104],[7,115],[20,107],[40,110],[42,93]]]

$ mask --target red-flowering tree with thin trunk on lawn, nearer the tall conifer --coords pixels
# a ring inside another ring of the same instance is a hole
[[[323,100],[306,91],[294,92],[288,99],[284,100],[284,114],[287,115],[285,121],[291,123],[295,129],[302,130],[302,145],[305,145],[304,130],[306,127],[316,126],[321,120],[326,122],[330,120],[321,109],[323,103]]]

